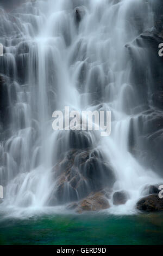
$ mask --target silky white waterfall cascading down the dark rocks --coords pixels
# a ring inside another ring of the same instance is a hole
[[[160,177],[131,152],[133,140],[141,144],[144,105],[152,108],[150,93],[146,99],[140,97],[139,74],[132,69],[134,56],[140,70],[150,73],[150,67],[143,66],[147,51],[135,39],[153,27],[151,1],[29,1],[11,13],[0,12],[4,46],[0,183],[5,192],[1,209],[27,211],[27,207],[67,203],[68,185],[65,200],[52,199],[57,187],[53,166],[70,148],[84,148],[85,138],[92,152],[102,154],[114,170],[111,193],[123,189],[129,193],[130,199],[120,206],[114,206],[110,197],[109,212],[134,212],[142,187],[160,183]],[[149,79],[146,75],[148,91]],[[65,106],[78,111],[111,110],[111,135],[54,132],[52,113]],[[77,145],[72,146],[73,141]],[[89,193],[90,185],[83,186]],[[76,200],[84,196],[83,190],[76,191]]]

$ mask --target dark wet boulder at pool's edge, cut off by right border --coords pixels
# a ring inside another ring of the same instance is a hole
[[[162,211],[163,199],[160,199],[156,194],[148,195],[148,197],[142,198],[137,202],[136,208],[147,212]]]

